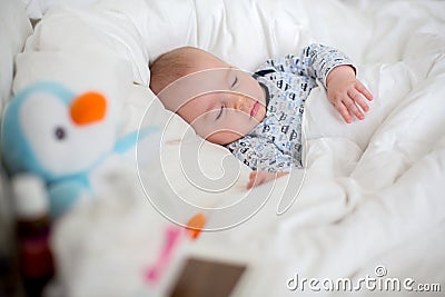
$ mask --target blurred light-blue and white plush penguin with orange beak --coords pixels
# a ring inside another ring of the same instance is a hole
[[[110,154],[135,147],[156,133],[148,127],[117,140],[109,102],[99,92],[75,95],[58,82],[38,82],[19,92],[2,119],[1,150],[11,175],[44,179],[53,216],[60,216],[90,190],[89,174]]]

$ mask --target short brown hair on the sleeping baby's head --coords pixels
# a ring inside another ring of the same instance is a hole
[[[150,63],[150,89],[154,93],[158,95],[167,86],[191,71],[192,63],[186,55],[192,50],[197,49],[177,48],[162,53]]]

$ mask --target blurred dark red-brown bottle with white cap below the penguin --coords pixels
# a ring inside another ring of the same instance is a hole
[[[51,219],[43,181],[33,175],[12,177],[19,268],[27,296],[40,297],[53,276],[49,245]]]

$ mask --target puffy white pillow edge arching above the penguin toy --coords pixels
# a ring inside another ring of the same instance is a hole
[[[147,49],[138,29],[121,12],[97,7],[53,7],[36,26],[24,49],[29,52],[76,50],[125,60],[132,69],[132,80],[148,86]]]

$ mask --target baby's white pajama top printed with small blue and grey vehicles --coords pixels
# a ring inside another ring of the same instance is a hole
[[[269,172],[301,168],[304,105],[319,80],[326,88],[332,69],[352,61],[340,51],[310,44],[298,55],[267,60],[254,78],[265,89],[266,116],[245,137],[226,145],[253,170]]]

